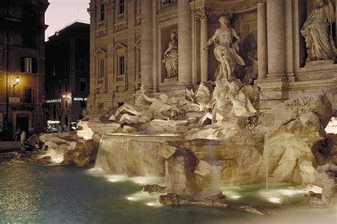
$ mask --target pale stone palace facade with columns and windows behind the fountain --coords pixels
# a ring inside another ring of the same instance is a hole
[[[329,2],[336,11],[336,1]],[[220,28],[219,18],[228,13],[231,27],[240,35],[239,55],[245,62],[235,75],[258,73],[258,77],[250,74],[250,83],[256,79],[260,87],[260,111],[321,91],[336,110],[335,58],[306,63],[306,39],[300,32],[319,4],[314,0],[91,0],[87,113],[108,113],[134,103],[141,94],[141,83],[150,95],[166,93],[176,104],[184,98],[186,87],[214,79],[218,67],[215,45],[203,49]],[[336,42],[336,22],[332,21],[336,18],[330,17],[327,30]],[[171,33],[176,33],[178,42],[178,76],[167,79],[163,59],[173,40]]]

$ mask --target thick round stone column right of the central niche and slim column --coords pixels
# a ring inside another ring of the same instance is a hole
[[[286,74],[285,0],[267,0],[268,78],[282,79]]]

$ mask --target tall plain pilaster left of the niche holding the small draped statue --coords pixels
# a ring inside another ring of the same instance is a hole
[[[141,1],[141,81],[153,86],[152,1]]]

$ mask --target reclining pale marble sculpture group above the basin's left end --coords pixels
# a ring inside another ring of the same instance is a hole
[[[153,119],[165,118],[164,113],[171,109],[171,106],[166,103],[168,98],[166,94],[160,94],[158,98],[146,96],[146,89],[142,85],[141,94],[137,97],[135,104],[125,103],[109,120],[146,123]],[[122,116],[119,118],[120,114]]]

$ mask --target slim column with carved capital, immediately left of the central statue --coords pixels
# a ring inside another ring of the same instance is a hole
[[[206,13],[198,15],[200,19],[200,78],[201,82],[208,82],[208,50],[203,50],[208,41],[208,16]]]

